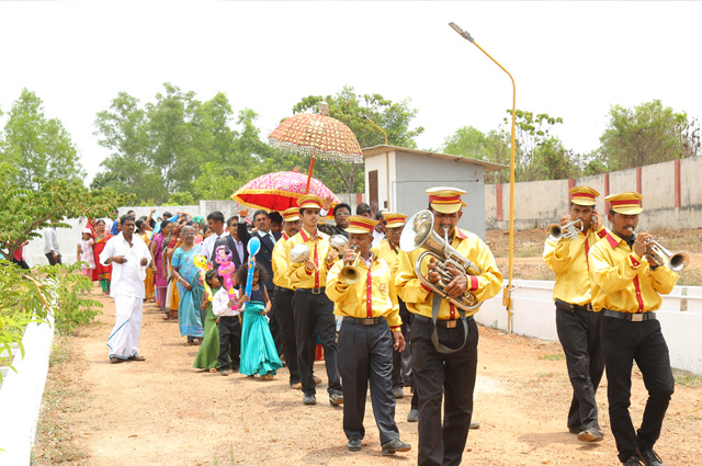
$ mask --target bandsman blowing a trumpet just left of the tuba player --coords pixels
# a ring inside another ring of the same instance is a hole
[[[409,444],[399,440],[390,380],[393,346],[401,352],[405,338],[390,268],[371,251],[376,224],[377,220],[366,217],[349,217],[349,249],[343,261],[337,261],[329,271],[326,293],[337,304],[335,314],[343,319],[339,331],[339,372],[343,377],[347,447],[352,452],[361,450],[370,380],[381,446],[383,454],[389,455],[410,450]]]

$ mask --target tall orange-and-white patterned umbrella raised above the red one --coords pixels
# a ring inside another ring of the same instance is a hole
[[[363,152],[353,132],[340,121],[329,116],[329,106],[326,103],[319,105],[318,114],[301,113],[285,120],[268,138],[273,147],[312,155],[305,193],[309,191],[312,171],[317,157],[363,163]]]

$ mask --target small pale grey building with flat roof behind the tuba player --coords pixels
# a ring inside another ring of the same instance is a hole
[[[365,200],[371,207],[409,216],[428,207],[427,189],[458,187],[465,190],[467,204],[458,226],[485,239],[484,174],[507,166],[395,146],[365,148],[363,158]]]

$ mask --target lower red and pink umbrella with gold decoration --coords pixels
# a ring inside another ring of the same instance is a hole
[[[332,196],[333,203],[339,203],[339,198],[321,181],[314,178],[308,181],[307,175],[297,170],[276,171],[254,178],[239,187],[231,198],[247,207],[282,212],[296,206],[307,189],[321,198]]]

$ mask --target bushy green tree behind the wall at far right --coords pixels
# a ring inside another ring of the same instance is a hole
[[[700,128],[697,121],[659,100],[629,109],[612,105],[600,143],[609,168],[624,170],[698,156]]]

